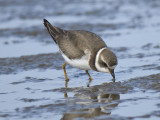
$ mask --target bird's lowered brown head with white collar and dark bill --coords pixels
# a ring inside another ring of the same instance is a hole
[[[114,69],[117,66],[116,55],[108,48],[102,48],[96,55],[96,68],[99,72],[109,72],[115,79]]]

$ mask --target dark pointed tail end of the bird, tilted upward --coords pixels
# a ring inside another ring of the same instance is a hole
[[[58,27],[52,26],[46,19],[43,19],[43,22],[44,22],[43,24],[47,28],[49,34],[51,35],[53,40],[57,43],[57,38],[64,33],[64,30],[62,30]]]

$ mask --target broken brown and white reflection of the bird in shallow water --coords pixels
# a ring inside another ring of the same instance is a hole
[[[64,95],[68,97],[67,93]],[[78,96],[79,98],[83,99],[84,95]],[[76,109],[74,111],[69,111],[65,113],[61,120],[73,120],[78,118],[84,119],[93,119],[98,116],[102,115],[110,115],[111,111],[118,106],[118,102],[115,100],[120,99],[119,94],[106,94],[106,93],[99,93],[98,95],[91,95],[85,96],[84,99],[87,100],[76,100],[74,101],[75,104],[82,105],[84,109]],[[114,102],[113,102],[114,101]],[[73,102],[73,101],[72,101]],[[97,105],[97,107],[95,107]],[[85,106],[85,107],[84,107]]]

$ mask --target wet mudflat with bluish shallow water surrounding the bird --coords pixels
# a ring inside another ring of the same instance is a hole
[[[159,120],[160,1],[0,1],[1,120]],[[118,57],[106,73],[67,66],[42,24],[100,35]]]

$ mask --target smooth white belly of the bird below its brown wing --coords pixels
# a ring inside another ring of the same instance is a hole
[[[82,56],[81,59],[69,59],[65,54],[61,52],[63,58],[65,59],[66,63],[69,65],[82,69],[82,70],[90,70],[90,65],[89,65],[89,58],[90,54],[87,54],[85,56]]]

